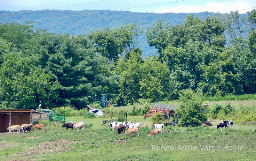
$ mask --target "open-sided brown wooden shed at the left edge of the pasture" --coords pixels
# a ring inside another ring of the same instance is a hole
[[[0,109],[0,131],[12,125],[33,124],[39,119],[48,120],[49,113],[32,109]]]

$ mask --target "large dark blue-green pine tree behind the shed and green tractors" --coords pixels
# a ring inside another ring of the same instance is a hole
[[[59,105],[84,108],[93,95],[115,93],[117,84],[108,60],[95,53],[92,42],[83,35],[43,34],[37,41],[33,63],[60,82]]]

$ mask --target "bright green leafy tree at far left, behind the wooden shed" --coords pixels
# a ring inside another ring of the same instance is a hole
[[[28,57],[19,53],[6,53],[0,69],[0,98],[5,108],[35,108],[42,104],[45,108],[56,105],[59,99],[58,81],[42,70],[31,68]]]

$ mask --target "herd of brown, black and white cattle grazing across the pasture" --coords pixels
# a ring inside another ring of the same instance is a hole
[[[124,132],[124,135],[128,135],[128,136],[131,136],[132,134],[135,134],[136,136],[139,136],[139,128],[140,128],[140,123],[136,123],[136,122],[112,122],[111,124],[108,125],[108,128],[112,128],[112,130],[114,131],[114,129],[116,128],[117,130],[117,134],[120,134],[122,131]],[[79,131],[78,129],[82,129],[83,128],[83,131],[84,131],[84,126],[85,126],[85,123],[80,121],[80,122],[77,122],[77,123],[66,123],[66,124],[63,124],[62,125],[62,128],[75,128],[76,131]],[[222,129],[228,127],[230,130],[231,128],[233,128],[233,121],[221,121],[219,125],[217,125],[217,128],[221,128],[221,132],[222,132]],[[30,125],[30,124],[22,124],[21,126],[20,125],[12,125],[10,127],[7,128],[7,130],[9,130],[9,133],[11,133],[13,131],[13,134],[14,134],[14,131],[17,130],[17,133],[18,132],[25,132],[26,130],[26,133],[27,131],[31,131],[31,129],[35,128],[36,130],[37,129],[42,129],[42,131],[44,132],[44,124],[36,124],[34,126]],[[125,129],[127,129],[125,131]],[[150,130],[149,134],[148,134],[148,138],[150,136],[153,136],[153,135],[156,135],[159,133],[161,133],[162,135],[162,132],[164,132],[164,124],[162,123],[157,123],[157,124],[154,124],[153,125],[153,130]]]

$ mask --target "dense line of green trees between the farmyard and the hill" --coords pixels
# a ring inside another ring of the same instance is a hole
[[[0,24],[0,108],[84,108],[108,94],[119,105],[179,99],[191,89],[205,97],[256,93],[256,11],[181,25],[158,20],[70,35],[31,22]],[[142,57],[146,35],[157,55]]]

